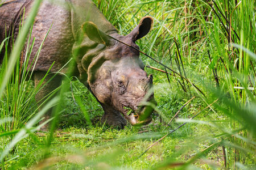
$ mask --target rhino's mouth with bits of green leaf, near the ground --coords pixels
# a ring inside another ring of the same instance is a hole
[[[146,103],[152,103],[156,105],[154,97],[150,97]],[[141,104],[137,107],[124,107],[125,111],[123,116],[130,122],[133,126],[141,126],[149,124],[152,120],[151,113],[154,112],[154,108],[150,104]]]

